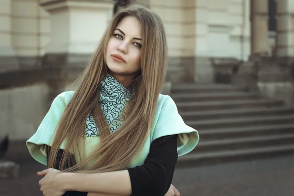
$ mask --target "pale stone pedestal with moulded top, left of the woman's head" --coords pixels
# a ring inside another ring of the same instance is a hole
[[[113,4],[113,0],[43,0],[51,25],[43,65],[85,66],[112,18]]]

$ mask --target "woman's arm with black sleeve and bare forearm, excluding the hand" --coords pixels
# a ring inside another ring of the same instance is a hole
[[[124,196],[164,196],[170,188],[177,160],[177,135],[151,143],[142,166],[104,173],[62,173],[65,190]]]

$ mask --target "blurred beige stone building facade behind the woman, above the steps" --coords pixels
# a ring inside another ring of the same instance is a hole
[[[292,104],[292,0],[140,1],[164,22],[167,81],[248,85]],[[113,0],[0,0],[2,135],[23,140],[36,131],[52,98],[87,64],[113,6]]]

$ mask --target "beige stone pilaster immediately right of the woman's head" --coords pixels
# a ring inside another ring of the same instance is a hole
[[[194,80],[195,2],[186,0],[140,0],[149,3],[162,19],[169,48],[169,65],[166,81],[187,82]]]

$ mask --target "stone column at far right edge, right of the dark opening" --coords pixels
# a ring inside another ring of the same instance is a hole
[[[276,55],[294,56],[294,2],[293,0],[277,0],[276,6]]]

